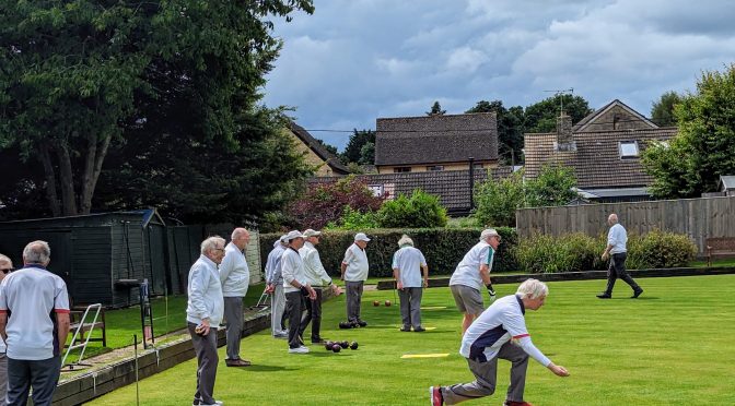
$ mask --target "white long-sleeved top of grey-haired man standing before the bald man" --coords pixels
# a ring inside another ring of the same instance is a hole
[[[219,329],[224,315],[222,283],[217,264],[203,254],[191,265],[187,292],[186,321],[198,325],[209,319],[209,326]]]

